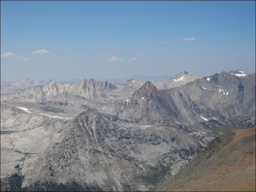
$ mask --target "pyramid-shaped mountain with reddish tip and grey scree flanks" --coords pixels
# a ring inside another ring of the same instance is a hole
[[[161,92],[147,81],[138,91],[134,92],[129,100],[115,104],[117,115],[121,119],[127,119],[140,124],[170,125],[176,124],[177,108],[168,105]]]

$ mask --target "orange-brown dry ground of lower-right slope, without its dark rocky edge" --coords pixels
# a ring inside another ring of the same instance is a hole
[[[207,165],[207,159],[204,166],[201,167],[200,173],[183,178],[177,177],[163,191],[255,191],[255,140],[246,143],[247,138],[252,138],[253,135],[255,138],[255,127],[235,130],[235,132],[235,138],[216,152],[216,157],[220,157],[217,168]],[[245,153],[243,158],[241,158],[241,154],[244,149],[237,149],[240,146],[250,151]],[[234,149],[240,150],[240,153],[234,152],[233,154]],[[231,163],[227,164],[227,161]]]

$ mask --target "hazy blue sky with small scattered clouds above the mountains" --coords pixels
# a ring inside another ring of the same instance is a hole
[[[1,82],[255,72],[255,1],[1,1]]]

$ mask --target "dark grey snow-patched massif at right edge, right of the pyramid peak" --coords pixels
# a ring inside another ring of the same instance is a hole
[[[237,76],[243,74],[245,76]],[[255,116],[255,73],[222,72],[189,82],[181,86],[180,90],[205,109],[202,111],[205,118],[214,117],[214,114],[207,114],[207,111],[216,111],[230,119]],[[221,119],[220,114],[215,118]]]

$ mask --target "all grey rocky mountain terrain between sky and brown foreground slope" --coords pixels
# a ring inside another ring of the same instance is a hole
[[[1,95],[1,181],[18,174],[23,186],[75,181],[107,191],[151,190],[226,130],[255,125],[255,73],[243,74],[222,72],[170,89],[136,79],[119,86],[52,80]],[[189,77],[184,71],[165,84]]]

